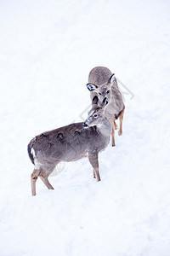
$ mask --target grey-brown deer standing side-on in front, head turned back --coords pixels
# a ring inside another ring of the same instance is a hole
[[[31,140],[27,150],[34,165],[31,173],[32,195],[36,195],[38,177],[48,189],[54,189],[48,176],[60,161],[77,161],[88,156],[94,168],[94,177],[100,181],[98,155],[105,150],[111,137],[111,123],[104,114],[106,104],[106,98],[99,104],[99,99],[95,97],[88,119],[84,122],[45,131]]]

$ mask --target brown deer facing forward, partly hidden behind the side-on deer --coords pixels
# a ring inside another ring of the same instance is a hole
[[[122,101],[122,93],[118,88],[115,73],[107,67],[94,67],[88,75],[88,90],[93,100],[96,96],[100,102],[106,98],[108,102],[105,108],[105,116],[110,120],[112,131],[112,147],[115,147],[115,130],[117,130],[116,119],[119,119],[118,135],[122,135],[122,120],[125,105]]]

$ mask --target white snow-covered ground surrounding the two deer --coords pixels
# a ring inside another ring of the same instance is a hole
[[[170,255],[170,3],[0,1],[0,255]],[[37,181],[27,143],[82,121],[95,66],[126,85],[123,135]],[[130,91],[130,92],[129,92]],[[133,94],[133,96],[132,96]]]

